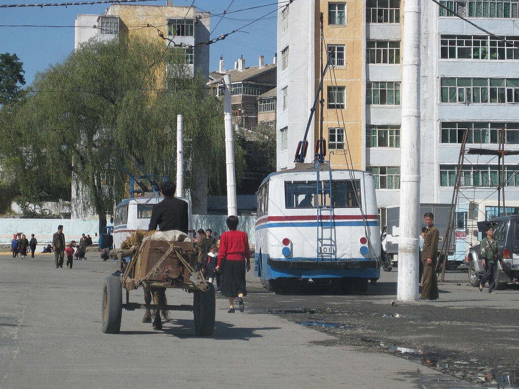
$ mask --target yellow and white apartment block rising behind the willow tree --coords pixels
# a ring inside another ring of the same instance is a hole
[[[197,11],[196,7],[112,4],[103,15],[77,15],[74,48],[91,38],[110,40],[119,33],[159,39],[167,45],[169,41],[162,39],[157,29],[148,24],[156,26],[163,36],[175,43],[196,45],[209,41],[210,14]],[[209,45],[179,50],[183,51],[190,74],[197,71],[207,77]]]

